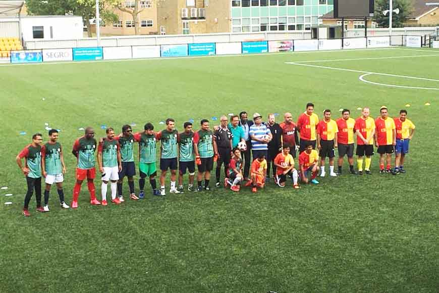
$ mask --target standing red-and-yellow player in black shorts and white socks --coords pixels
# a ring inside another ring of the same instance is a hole
[[[320,177],[326,175],[324,171],[324,160],[326,157],[330,161],[330,176],[337,177],[334,172],[335,148],[337,148],[337,132],[339,127],[337,123],[331,119],[331,110],[324,110],[324,119],[317,125],[317,146],[320,151]]]

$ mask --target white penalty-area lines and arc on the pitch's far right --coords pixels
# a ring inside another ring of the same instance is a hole
[[[411,50],[411,51],[414,51],[414,50]],[[417,50],[417,51],[419,51],[419,50]],[[309,62],[331,62],[331,61],[357,61],[357,60],[395,59],[395,58],[410,58],[410,57],[412,57],[412,58],[413,57],[431,57],[431,56],[436,56],[437,57],[437,56],[439,56],[439,54],[397,56],[397,57],[371,57],[371,58],[337,59],[337,60],[298,61],[298,62],[286,62],[286,64],[363,73],[359,77],[359,80],[362,81],[362,82],[366,82],[366,83],[370,83],[370,84],[375,84],[375,85],[382,85],[382,86],[389,86],[389,87],[398,87],[398,88],[439,90],[439,88],[436,88],[436,87],[418,87],[418,86],[405,86],[405,85],[378,83],[378,82],[368,81],[368,80],[364,79],[364,77],[368,76],[368,75],[383,75],[383,76],[402,77],[402,78],[409,78],[409,79],[438,81],[438,82],[439,82],[439,79],[432,79],[432,78],[425,78],[425,77],[416,77],[416,76],[407,76],[407,75],[398,75],[398,74],[390,74],[390,73],[381,73],[381,72],[372,72],[372,71],[364,71],[364,70],[355,70],[355,69],[347,69],[347,68],[338,68],[338,67],[330,67],[330,66],[320,66],[320,65],[305,64],[305,62],[309,63]]]

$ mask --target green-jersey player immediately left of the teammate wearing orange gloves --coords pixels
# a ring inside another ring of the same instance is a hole
[[[192,123],[185,122],[183,124],[184,132],[180,133],[179,141],[179,176],[178,176],[178,190],[183,192],[183,175],[186,170],[189,170],[189,185],[188,190],[194,190],[195,177],[195,155],[194,155],[194,132],[192,131]]]

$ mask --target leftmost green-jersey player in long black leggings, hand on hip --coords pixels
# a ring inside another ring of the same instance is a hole
[[[32,143],[25,146],[25,148],[17,155],[15,161],[20,167],[23,174],[26,176],[27,192],[24,198],[23,215],[29,217],[28,206],[30,199],[35,189],[35,199],[37,202],[37,211],[44,212],[41,207],[41,142],[42,134],[35,133],[32,135]],[[25,158],[25,165],[22,164],[22,159]]]

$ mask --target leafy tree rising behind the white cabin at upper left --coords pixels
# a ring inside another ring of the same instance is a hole
[[[100,18],[113,22],[117,16],[105,7],[109,0],[99,1]],[[96,17],[95,0],[27,0],[26,7],[30,15],[79,15],[82,16],[87,27],[88,36],[91,37],[90,19]]]

